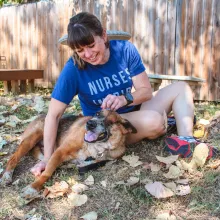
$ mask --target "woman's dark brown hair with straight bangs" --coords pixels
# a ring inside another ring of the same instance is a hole
[[[94,43],[94,36],[103,36],[101,22],[95,15],[88,12],[81,12],[70,18],[67,31],[67,44],[72,50]],[[109,42],[106,46],[109,47]],[[76,52],[73,53],[73,59],[79,69],[85,69],[85,61]]]

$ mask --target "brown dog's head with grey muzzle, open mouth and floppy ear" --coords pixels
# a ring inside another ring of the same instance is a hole
[[[86,123],[86,134],[84,140],[88,143],[106,142],[111,134],[113,124],[120,124],[121,132],[137,133],[135,127],[118,113],[110,110],[101,110]]]

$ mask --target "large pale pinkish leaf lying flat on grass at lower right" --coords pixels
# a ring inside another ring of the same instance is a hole
[[[161,182],[154,182],[145,185],[145,189],[157,199],[167,198],[174,195],[174,192],[165,187]]]

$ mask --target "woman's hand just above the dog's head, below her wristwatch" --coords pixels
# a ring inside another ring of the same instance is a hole
[[[101,108],[116,111],[119,108],[125,106],[126,104],[127,101],[123,95],[121,96],[107,95],[102,102]]]

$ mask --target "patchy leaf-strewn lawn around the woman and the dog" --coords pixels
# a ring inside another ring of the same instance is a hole
[[[15,151],[25,126],[34,116],[46,113],[49,94],[47,90],[40,90],[27,96],[0,97],[0,172]],[[210,119],[218,110],[216,104],[197,103],[196,115],[197,118]],[[80,112],[77,100],[71,103],[67,112]],[[139,161],[143,162],[135,168],[122,159],[109,162],[84,175],[79,175],[77,169],[68,164],[58,168],[46,186],[65,181],[71,188],[76,181],[84,183],[87,177],[94,178],[94,184],[90,184],[88,190],[82,193],[87,196],[87,201],[81,206],[74,205],[75,202],[68,197],[69,193],[53,199],[41,196],[28,204],[21,202],[19,192],[33,181],[29,169],[36,163],[28,155],[22,158],[16,168],[13,184],[0,188],[0,219],[74,220],[92,211],[101,220],[155,219],[163,213],[167,213],[170,219],[220,219],[220,171],[218,167],[208,167],[219,162],[218,158],[208,161],[196,172],[184,172],[181,175],[181,179],[188,179],[191,188],[191,193],[185,196],[156,199],[147,192],[145,185],[151,181],[172,181],[164,177],[168,169],[155,157],[167,156],[163,150],[163,140],[164,137],[161,137],[128,146],[126,155],[139,156]],[[212,139],[210,142],[216,145],[218,140]],[[153,172],[150,163],[159,165],[160,169]],[[135,177],[137,183],[126,184],[130,177]]]

